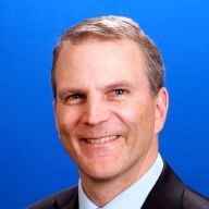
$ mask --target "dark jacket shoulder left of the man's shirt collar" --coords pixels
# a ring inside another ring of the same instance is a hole
[[[61,190],[49,197],[27,207],[27,209],[59,209],[63,208],[65,205],[76,204],[78,196],[77,186],[70,187],[67,189]]]

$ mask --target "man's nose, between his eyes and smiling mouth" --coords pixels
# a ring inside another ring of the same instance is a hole
[[[87,99],[82,116],[83,123],[86,125],[97,125],[107,122],[110,116],[110,108],[102,99],[96,97]]]

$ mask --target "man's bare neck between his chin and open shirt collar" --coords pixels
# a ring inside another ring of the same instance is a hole
[[[88,198],[98,207],[103,207],[114,197],[138,181],[155,163],[158,156],[158,140],[152,144],[144,158],[125,173],[110,180],[95,180],[81,172],[82,184]]]

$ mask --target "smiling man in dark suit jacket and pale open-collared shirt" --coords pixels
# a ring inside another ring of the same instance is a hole
[[[102,16],[66,30],[53,52],[59,136],[78,187],[30,209],[206,209],[158,153],[168,111],[163,63],[130,19]]]

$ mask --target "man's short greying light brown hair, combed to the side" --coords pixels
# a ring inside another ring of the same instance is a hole
[[[69,28],[61,36],[60,41],[53,49],[53,62],[51,70],[51,83],[54,99],[57,98],[56,87],[56,64],[59,52],[64,42],[79,45],[89,39],[98,40],[134,40],[139,45],[145,56],[147,64],[147,76],[149,81],[150,91],[156,96],[164,83],[164,67],[161,54],[157,46],[151,39],[144,34],[139,25],[131,19],[123,16],[100,16],[87,19],[75,26]]]

